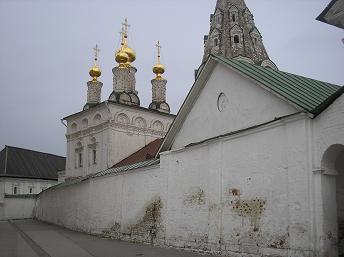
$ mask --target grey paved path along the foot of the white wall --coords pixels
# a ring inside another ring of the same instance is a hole
[[[36,220],[0,221],[0,257],[210,257],[99,238]]]

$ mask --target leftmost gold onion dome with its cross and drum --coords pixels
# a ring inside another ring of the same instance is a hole
[[[98,45],[93,48],[94,51],[94,58],[93,58],[93,66],[89,71],[92,80],[87,82],[87,103],[84,106],[84,110],[87,110],[101,101],[101,89],[103,87],[103,83],[98,81],[98,78],[101,76],[102,72],[99,68],[98,59],[99,59],[99,52],[100,49]]]

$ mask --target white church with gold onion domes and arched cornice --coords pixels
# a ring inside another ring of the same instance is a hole
[[[60,181],[87,176],[109,169],[156,139],[163,138],[173,119],[166,102],[165,67],[160,63],[158,42],[157,64],[153,67],[152,102],[140,106],[135,89],[136,54],[128,46],[127,20],[123,23],[121,47],[116,52],[118,65],[112,69],[113,91],[101,102],[103,83],[98,81],[98,47],[87,82],[87,103],[79,113],[65,117],[67,127],[67,164]]]

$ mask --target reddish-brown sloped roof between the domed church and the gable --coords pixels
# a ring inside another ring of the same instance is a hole
[[[132,163],[142,162],[154,158],[155,155],[158,153],[162,141],[162,138],[154,140],[153,142],[149,143],[137,152],[130,155],[129,157],[115,164],[113,168],[122,167]]]

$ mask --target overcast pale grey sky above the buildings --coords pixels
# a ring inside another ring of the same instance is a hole
[[[128,18],[137,52],[136,89],[151,101],[159,39],[167,100],[178,111],[203,55],[203,35],[216,0],[0,0],[0,147],[65,155],[60,119],[86,102],[92,48],[98,44],[104,83],[112,91],[114,52]],[[329,0],[246,0],[268,54],[280,70],[344,84],[344,30],[315,18]]]

